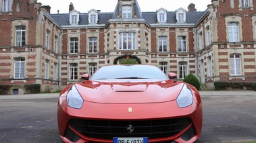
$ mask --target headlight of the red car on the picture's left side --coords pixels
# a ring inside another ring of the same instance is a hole
[[[67,102],[70,107],[80,109],[84,100],[81,95],[78,93],[76,86],[73,85],[68,91]]]

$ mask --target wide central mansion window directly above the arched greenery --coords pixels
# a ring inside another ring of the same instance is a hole
[[[119,49],[134,50],[135,49],[135,33],[121,32],[119,34]]]

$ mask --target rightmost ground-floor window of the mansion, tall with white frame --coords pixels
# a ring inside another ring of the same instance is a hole
[[[241,57],[240,54],[230,54],[231,75],[241,75]]]

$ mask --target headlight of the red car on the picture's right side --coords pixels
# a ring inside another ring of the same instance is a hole
[[[183,85],[178,98],[176,99],[179,107],[188,107],[193,102],[193,94],[188,85]]]

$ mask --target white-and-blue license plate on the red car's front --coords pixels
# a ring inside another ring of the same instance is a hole
[[[113,138],[113,143],[149,143],[149,138]]]

